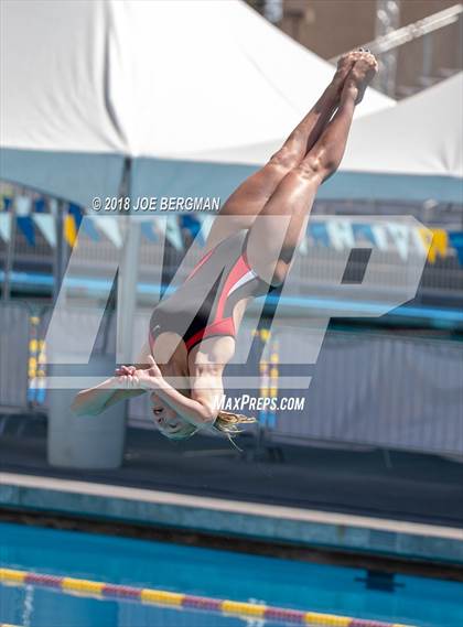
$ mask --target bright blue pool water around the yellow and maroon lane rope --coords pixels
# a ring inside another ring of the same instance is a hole
[[[368,590],[362,569],[120,537],[0,525],[0,565],[422,627],[463,625],[463,584],[396,575]],[[40,587],[0,586],[0,623],[30,627],[233,627],[239,618]],[[266,623],[269,627],[270,623]]]

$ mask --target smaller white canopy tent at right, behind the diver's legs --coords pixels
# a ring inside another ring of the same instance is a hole
[[[462,111],[460,73],[394,108],[354,120],[341,170],[317,197],[463,203]],[[207,159],[257,165],[279,143],[220,150]]]

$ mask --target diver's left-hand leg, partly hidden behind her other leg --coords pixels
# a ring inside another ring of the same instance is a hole
[[[346,76],[362,54],[359,51],[353,51],[341,57],[332,82],[280,150],[230,195],[219,213],[219,216],[228,218],[215,220],[207,239],[207,248],[214,247],[232,233],[252,226],[256,216],[262,210],[281,180],[301,163],[321,137],[340,104]]]

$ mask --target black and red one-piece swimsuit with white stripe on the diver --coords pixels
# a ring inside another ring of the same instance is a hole
[[[246,235],[239,231],[220,241],[173,294],[159,302],[150,321],[151,352],[165,332],[183,337],[189,352],[206,337],[236,336],[235,305],[272,289],[248,263]]]

